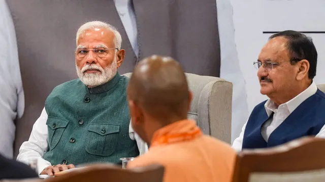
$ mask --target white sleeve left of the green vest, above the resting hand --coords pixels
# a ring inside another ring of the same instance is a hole
[[[32,130],[28,141],[24,142],[17,156],[17,160],[28,164],[30,160],[37,159],[38,173],[40,174],[44,168],[50,166],[51,163],[43,159],[45,152],[48,150],[48,130],[47,130],[47,113],[43,109],[41,116],[32,126]]]

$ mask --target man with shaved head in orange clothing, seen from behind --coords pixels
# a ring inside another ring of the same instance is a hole
[[[153,55],[135,68],[127,86],[132,126],[150,145],[128,168],[160,163],[164,181],[230,181],[235,151],[204,135],[187,119],[192,94],[181,66]]]

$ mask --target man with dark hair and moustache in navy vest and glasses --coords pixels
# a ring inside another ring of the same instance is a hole
[[[252,111],[233,148],[256,149],[302,136],[325,138],[325,94],[313,78],[317,51],[311,38],[286,30],[272,35],[254,65],[269,100]]]

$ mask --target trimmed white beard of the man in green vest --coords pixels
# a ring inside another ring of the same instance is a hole
[[[89,87],[95,87],[107,83],[110,81],[117,72],[117,61],[116,56],[114,56],[114,60],[111,65],[103,69],[102,67],[94,64],[87,64],[80,70],[76,65],[77,75],[80,80]],[[85,73],[88,69],[96,69],[99,70],[100,73]]]

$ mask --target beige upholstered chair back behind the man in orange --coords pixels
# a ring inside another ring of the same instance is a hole
[[[193,93],[187,117],[197,121],[205,134],[231,143],[233,84],[217,77],[185,74]]]

